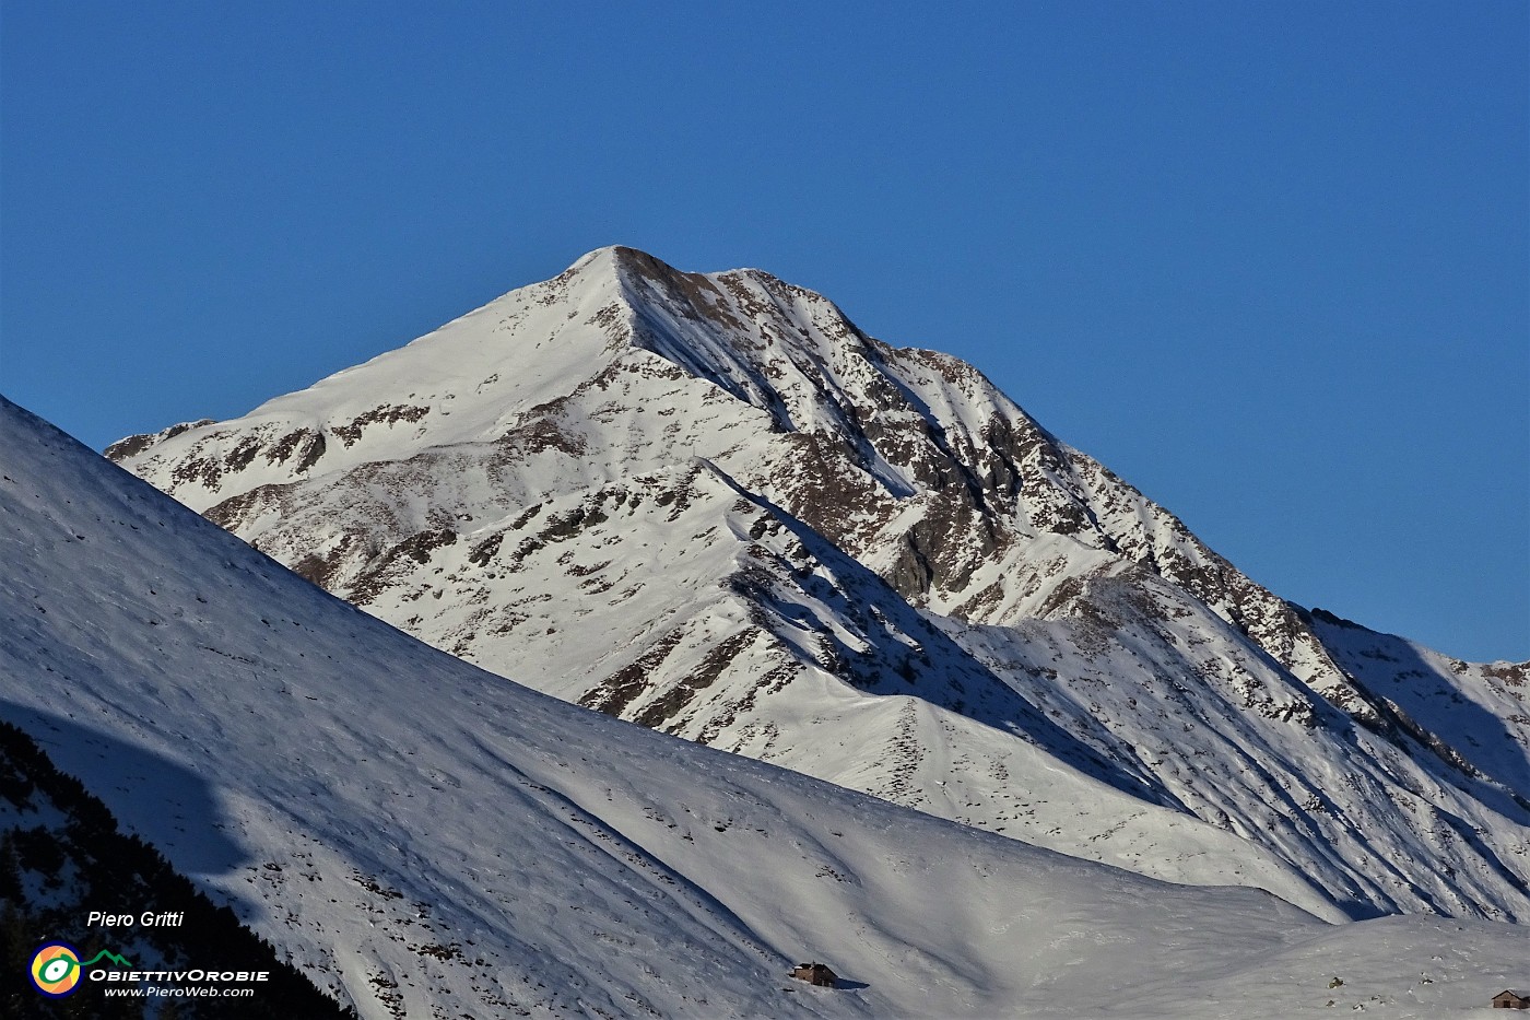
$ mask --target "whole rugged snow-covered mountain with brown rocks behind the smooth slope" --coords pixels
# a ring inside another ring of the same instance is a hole
[[[1524,666],[1427,659],[1408,683],[1478,685],[1487,724],[1429,698],[1405,720],[976,369],[765,273],[606,248],[107,453],[565,700],[1327,917],[1530,917]]]

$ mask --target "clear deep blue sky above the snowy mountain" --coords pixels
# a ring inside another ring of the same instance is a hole
[[[1276,593],[1527,659],[1527,18],[6,0],[0,391],[99,449],[600,245],[754,265]]]

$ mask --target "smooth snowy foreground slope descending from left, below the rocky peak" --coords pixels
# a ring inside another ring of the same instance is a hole
[[[534,694],[5,401],[0,562],[3,715],[366,1017],[1300,1015],[1331,973],[1452,1015],[1530,951],[1333,930]],[[783,982],[799,957],[845,986]]]

